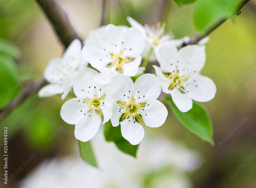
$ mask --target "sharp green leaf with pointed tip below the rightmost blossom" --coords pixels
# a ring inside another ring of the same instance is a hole
[[[190,132],[195,133],[202,140],[214,145],[213,126],[210,116],[207,115],[206,108],[201,104],[193,101],[193,107],[188,112],[181,112],[174,104],[171,97],[165,99],[170,109],[180,122],[188,128]]]

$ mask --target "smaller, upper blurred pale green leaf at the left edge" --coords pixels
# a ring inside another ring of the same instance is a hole
[[[18,58],[20,51],[9,40],[0,38],[0,53],[4,54],[5,56]]]

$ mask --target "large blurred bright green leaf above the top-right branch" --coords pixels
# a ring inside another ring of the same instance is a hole
[[[195,26],[201,32],[221,19],[234,15],[234,4],[237,0],[198,0],[194,8],[193,19]]]

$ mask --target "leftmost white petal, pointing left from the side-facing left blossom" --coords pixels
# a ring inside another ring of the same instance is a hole
[[[39,92],[39,97],[51,97],[57,94],[63,93],[63,87],[57,85],[57,84],[48,84],[44,87],[42,87]]]

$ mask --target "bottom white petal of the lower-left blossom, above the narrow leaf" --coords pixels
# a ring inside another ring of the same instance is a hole
[[[101,118],[98,114],[93,114],[90,117],[84,116],[75,125],[75,137],[82,142],[91,140],[98,132],[101,125]]]

